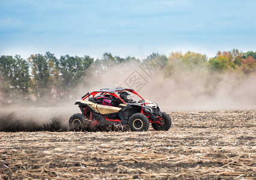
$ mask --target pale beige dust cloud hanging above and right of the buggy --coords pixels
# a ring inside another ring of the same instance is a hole
[[[116,65],[101,74],[91,73],[78,87],[79,92],[85,94],[109,86],[133,88],[167,112],[256,109],[256,74],[245,76],[198,67],[177,68],[166,77],[164,68],[151,67],[151,71],[145,71],[140,65],[127,63]]]

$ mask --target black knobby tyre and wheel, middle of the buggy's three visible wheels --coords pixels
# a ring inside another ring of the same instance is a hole
[[[141,113],[135,113],[130,116],[128,125],[131,131],[147,131],[149,127],[149,121],[147,116]]]

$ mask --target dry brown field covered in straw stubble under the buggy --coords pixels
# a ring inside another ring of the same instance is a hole
[[[256,179],[256,110],[169,115],[169,131],[2,131],[0,179]]]

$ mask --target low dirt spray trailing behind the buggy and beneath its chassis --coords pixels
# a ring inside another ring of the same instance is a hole
[[[78,109],[79,110],[79,109]],[[0,131],[71,131],[69,118],[72,111],[67,108],[1,109]],[[129,131],[129,127],[114,122],[84,121],[79,131]]]

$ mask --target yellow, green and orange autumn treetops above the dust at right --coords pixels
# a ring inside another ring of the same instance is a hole
[[[241,75],[248,76],[255,73],[256,52],[239,52],[237,49],[231,51],[218,52],[214,58],[208,59],[206,55],[195,52],[172,52],[168,58],[167,68],[172,69],[175,66],[198,68],[204,67],[219,73],[224,71],[236,71]],[[172,73],[168,70],[168,73]]]

